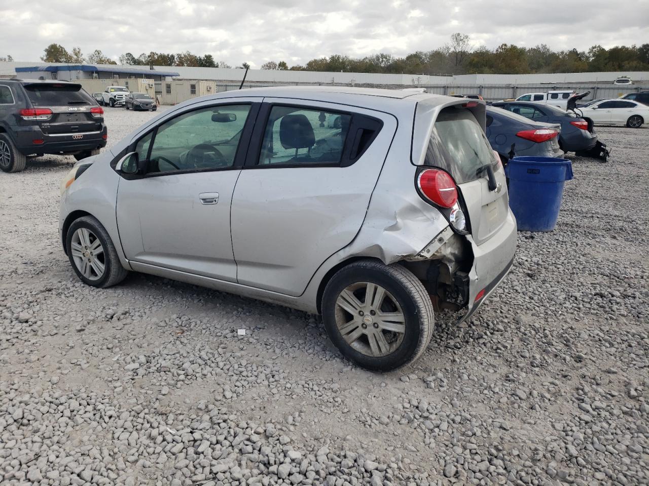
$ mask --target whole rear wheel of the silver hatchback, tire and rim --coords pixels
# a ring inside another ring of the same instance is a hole
[[[372,371],[392,371],[421,356],[434,330],[426,288],[406,268],[360,260],[324,288],[324,327],[338,350]]]

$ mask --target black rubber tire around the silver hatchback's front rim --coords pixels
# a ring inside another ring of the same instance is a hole
[[[88,229],[92,233],[92,235],[101,242],[101,246],[103,246],[104,272],[103,275],[99,277],[99,279],[91,280],[85,277],[80,272],[79,268],[77,268],[77,264],[75,263],[75,260],[73,258],[72,238],[77,229],[80,228]],[[70,227],[67,229],[66,249],[67,257],[73,270],[77,274],[77,277],[79,277],[79,279],[86,285],[98,288],[106,288],[120,283],[127,277],[127,275],[129,275],[129,271],[126,270],[119,261],[115,245],[110,239],[110,236],[108,236],[108,232],[93,216],[82,216],[81,218],[72,222]]]

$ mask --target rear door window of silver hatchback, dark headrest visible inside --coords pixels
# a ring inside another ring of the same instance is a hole
[[[294,106],[273,106],[259,163],[340,163],[351,115]]]

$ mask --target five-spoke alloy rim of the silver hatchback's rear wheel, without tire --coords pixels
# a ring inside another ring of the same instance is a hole
[[[358,282],[343,289],[335,315],[343,339],[366,356],[394,353],[406,334],[406,316],[397,299],[375,283]]]

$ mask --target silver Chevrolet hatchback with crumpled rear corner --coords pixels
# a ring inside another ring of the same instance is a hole
[[[410,91],[194,98],[71,170],[63,247],[95,287],[130,270],[322,314],[344,356],[389,371],[424,352],[435,310],[468,318],[511,268],[484,128],[484,102]]]

